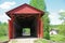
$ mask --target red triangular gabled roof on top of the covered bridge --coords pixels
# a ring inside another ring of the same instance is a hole
[[[43,14],[43,11],[40,11],[29,4],[23,4],[23,5],[20,5],[9,12],[6,12],[6,14],[10,16],[10,14],[31,14],[31,13],[41,13]]]

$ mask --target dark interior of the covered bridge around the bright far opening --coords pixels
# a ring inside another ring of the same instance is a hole
[[[37,38],[37,18],[36,16],[23,17],[15,16],[14,22],[14,38]],[[23,29],[29,28],[30,35],[23,35]]]

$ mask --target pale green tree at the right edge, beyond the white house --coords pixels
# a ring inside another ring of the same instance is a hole
[[[65,35],[65,12],[61,12],[60,15],[61,15],[60,19],[64,20],[60,26],[60,33]]]

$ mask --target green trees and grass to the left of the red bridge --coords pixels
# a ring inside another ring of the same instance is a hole
[[[0,22],[0,41],[8,40],[8,24]]]

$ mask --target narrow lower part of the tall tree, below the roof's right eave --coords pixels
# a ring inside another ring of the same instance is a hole
[[[50,34],[49,34],[50,20],[49,20],[48,14],[49,13],[46,13],[46,15],[43,16],[43,31],[44,31],[43,38],[49,40],[50,39]]]

